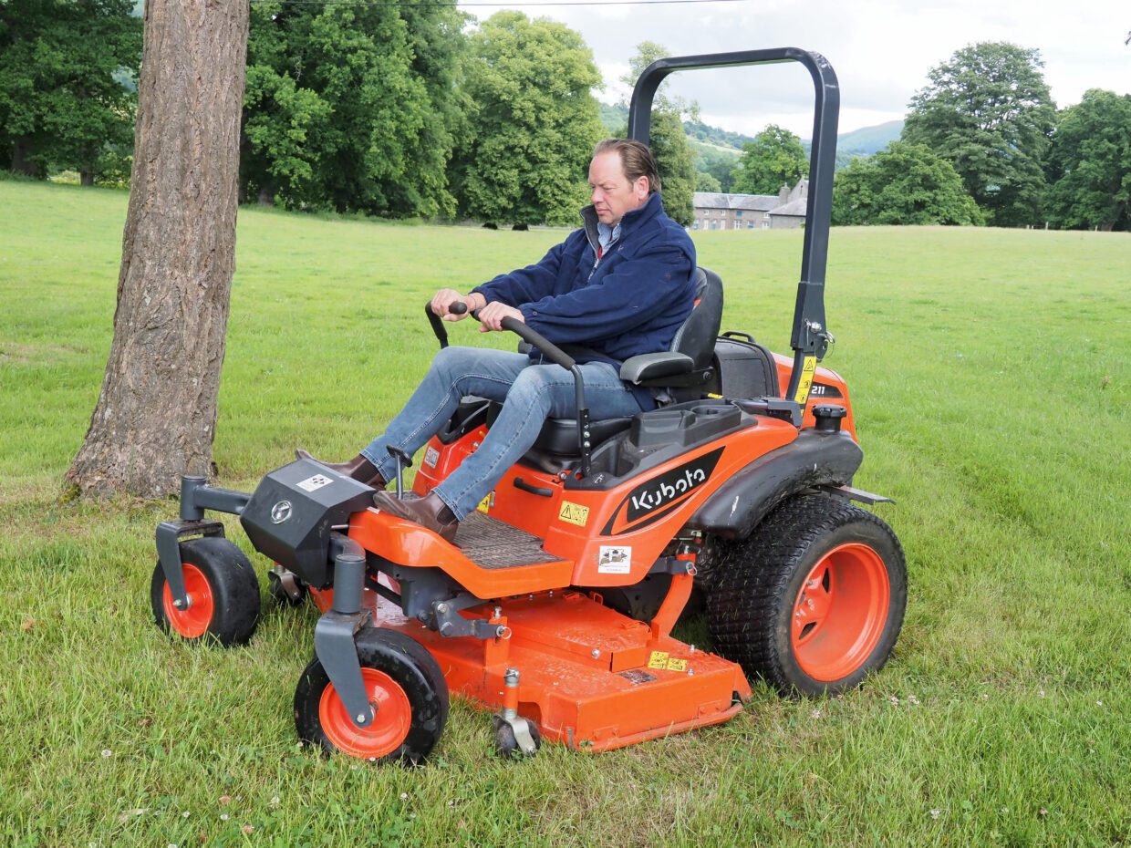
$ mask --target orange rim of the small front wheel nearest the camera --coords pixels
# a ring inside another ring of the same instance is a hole
[[[405,690],[392,677],[375,668],[361,669],[362,683],[369,703],[377,712],[368,727],[357,727],[349,720],[345,704],[333,684],[322,690],[318,703],[318,718],[322,732],[333,745],[351,756],[366,760],[391,754],[408,736],[413,722],[413,707]]]

